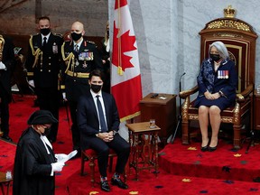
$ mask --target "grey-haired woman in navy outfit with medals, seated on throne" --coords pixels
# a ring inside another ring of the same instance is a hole
[[[199,95],[195,107],[199,107],[199,122],[202,136],[201,151],[213,152],[218,145],[220,112],[236,102],[237,70],[223,42],[209,45],[209,58],[202,61],[197,78]],[[212,135],[209,140],[208,126]]]

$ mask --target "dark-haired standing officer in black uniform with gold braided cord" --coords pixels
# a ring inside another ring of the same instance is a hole
[[[38,28],[41,33],[31,36],[30,49],[26,60],[29,84],[35,87],[40,109],[49,110],[59,120],[61,95],[58,90],[60,66],[63,63],[60,48],[63,39],[51,32],[50,18],[39,18]],[[51,143],[58,134],[58,123],[51,126],[48,136]]]

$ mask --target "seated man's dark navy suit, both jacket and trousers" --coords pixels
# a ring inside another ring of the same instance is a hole
[[[98,168],[100,175],[107,177],[109,148],[112,148],[117,153],[116,172],[121,174],[125,170],[125,164],[130,153],[130,145],[118,134],[120,121],[115,98],[106,92],[101,93],[106,110],[107,132],[116,131],[114,139],[111,142],[104,142],[96,136],[99,133],[98,111],[89,90],[86,96],[79,98],[78,125],[82,150],[92,148],[98,153],[103,153],[103,155],[98,157]],[[107,147],[108,150],[106,150]]]

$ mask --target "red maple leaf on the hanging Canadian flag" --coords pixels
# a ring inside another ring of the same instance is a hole
[[[130,62],[130,60],[133,58],[131,56],[125,55],[125,52],[127,51],[134,51],[135,48],[135,35],[130,36],[129,31],[122,34],[120,37],[117,37],[117,34],[119,32],[118,28],[116,28],[116,25],[114,23],[114,36],[113,36],[113,56],[112,56],[112,63],[115,66],[121,66],[122,70],[125,71],[127,68],[133,68],[134,64]]]

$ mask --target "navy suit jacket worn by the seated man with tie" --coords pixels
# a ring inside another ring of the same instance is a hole
[[[106,110],[107,131],[115,130],[117,132],[120,121],[115,98],[103,91],[102,98]],[[81,146],[86,149],[88,148],[88,139],[99,133],[98,112],[90,91],[88,91],[87,95],[79,98],[77,116]]]

